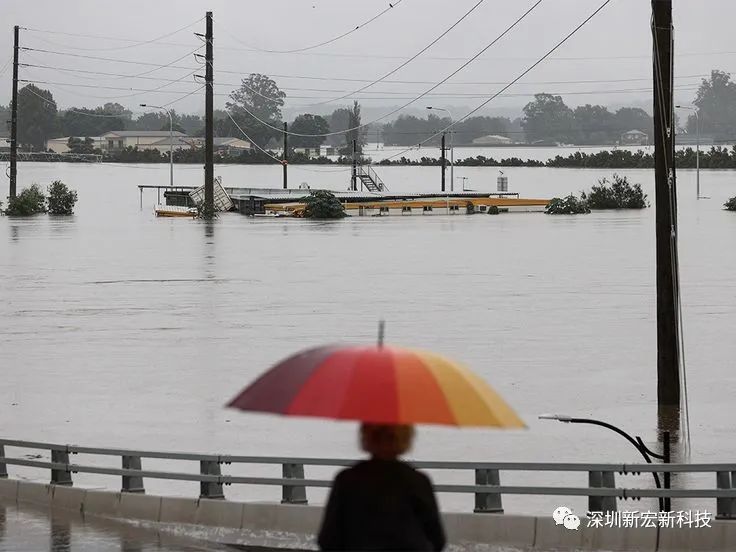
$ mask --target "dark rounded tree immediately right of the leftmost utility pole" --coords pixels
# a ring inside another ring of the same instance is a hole
[[[18,91],[18,143],[43,151],[57,131],[56,102],[48,90],[28,84]]]

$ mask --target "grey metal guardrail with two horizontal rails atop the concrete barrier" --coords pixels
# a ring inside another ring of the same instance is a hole
[[[51,461],[6,456],[5,447],[47,450]],[[117,456],[121,468],[90,466],[70,462],[70,455]],[[188,460],[199,463],[199,473],[181,473],[146,470],[142,459]],[[307,488],[327,488],[332,481],[309,479],[304,475],[305,466],[345,467],[354,459],[292,458],[268,456],[236,456],[219,454],[194,454],[181,452],[141,451],[112,448],[82,447],[33,441],[0,439],[0,478],[8,477],[7,466],[25,466],[48,469],[51,483],[72,485],[75,473],[104,474],[122,478],[121,491],[145,492],[144,479],[168,479],[199,482],[200,498],[224,499],[223,487],[228,485],[280,486],[282,503],[307,504]],[[253,477],[223,475],[222,465],[231,464],[280,464],[282,477]],[[736,464],[587,464],[587,463],[537,463],[537,462],[432,462],[417,461],[414,467],[426,470],[461,470],[474,474],[475,484],[436,484],[438,493],[473,494],[474,511],[478,513],[503,513],[503,495],[579,496],[588,498],[588,510],[594,512],[615,511],[617,499],[640,498],[710,498],[716,500],[719,519],[736,519]],[[588,486],[508,486],[501,484],[502,472],[575,472],[587,473]],[[714,474],[715,487],[705,489],[651,489],[622,488],[616,486],[616,474],[638,475],[644,473],[708,473]]]

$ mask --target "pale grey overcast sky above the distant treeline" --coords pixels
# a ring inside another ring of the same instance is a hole
[[[395,7],[386,14],[345,38],[306,52],[284,54],[258,50],[299,49],[329,40],[375,16],[388,7],[388,2],[2,0],[0,71],[12,57],[13,25],[69,33],[21,30],[21,45],[133,63],[22,51],[21,62],[53,67],[21,67],[20,78],[38,82],[40,87],[51,90],[60,108],[91,107],[115,101],[140,111],[137,106],[142,102],[162,104],[179,100],[172,104],[177,111],[202,113],[203,92],[180,98],[201,86],[190,76],[198,63],[188,54],[201,46],[193,32],[204,32],[203,17],[209,9],[214,12],[215,20],[216,92],[222,94],[215,98],[216,107],[224,106],[225,95],[239,82],[240,75],[262,72],[274,76],[287,93],[289,112],[292,109],[299,112],[331,111],[333,107],[345,104],[346,100],[321,107],[310,107],[309,104],[343,96],[367,84],[332,79],[378,79],[416,54],[477,1],[397,0],[393,2]],[[434,91],[436,96],[428,96],[414,104],[413,112],[426,105],[435,105],[451,109],[455,118],[459,118],[502,86],[494,83],[514,79],[602,2],[543,0],[512,33]],[[457,69],[463,59],[473,56],[492,41],[532,4],[533,0],[485,0],[446,37],[416,61],[389,77],[389,80],[426,83],[442,80]],[[714,68],[726,71],[736,69],[736,45],[733,44],[736,2],[674,0],[674,9],[677,52],[675,74],[678,77],[675,84],[676,88],[680,88],[676,91],[676,101],[687,103],[694,96],[700,75],[706,75]],[[155,39],[189,24],[193,25],[155,42],[134,42]],[[638,89],[650,86],[649,24],[650,3],[647,0],[612,0],[596,18],[560,48],[553,59],[545,61],[512,87],[508,93],[513,96],[498,98],[489,104],[489,108],[520,111],[529,101],[528,95],[540,91],[560,93],[566,103],[572,106],[603,103],[648,107],[651,94]],[[77,34],[105,38],[71,36]],[[201,52],[204,53],[204,49]],[[177,58],[182,59],[173,64],[175,68],[156,69],[155,65],[138,64],[163,65]],[[116,75],[147,74],[141,75],[145,78],[134,79],[73,73],[64,69]],[[203,73],[204,69],[199,72]],[[9,67],[0,75],[0,103],[3,104],[10,99],[10,76]],[[159,91],[139,91],[162,87],[172,79],[181,80],[169,83]],[[359,97],[364,98],[361,101],[364,111],[386,112],[390,110],[389,107],[406,103],[424,92],[431,86],[426,83],[378,83]],[[632,89],[634,91],[630,92]],[[448,94],[451,96],[448,97]],[[457,94],[478,97],[452,96]]]

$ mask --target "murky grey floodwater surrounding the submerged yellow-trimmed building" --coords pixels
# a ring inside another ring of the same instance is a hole
[[[293,187],[308,182],[345,189],[349,178],[334,167],[289,170]],[[588,189],[613,172],[503,170],[511,190],[543,198]],[[156,219],[156,193],[146,192],[140,210],[136,185],[166,184],[167,171],[165,165],[20,165],[21,187],[60,178],[78,190],[79,203],[69,218],[0,218],[4,437],[356,457],[355,424],[248,415],[223,405],[301,348],[372,342],[378,320],[385,318],[389,342],[462,360],[529,426],[513,432],[421,428],[414,458],[640,461],[626,441],[603,429],[537,419],[550,412],[603,419],[655,444],[653,209],[338,222],[236,213],[214,223]],[[392,191],[439,189],[437,167],[378,172]],[[653,199],[652,171],[618,172],[640,182]],[[225,186],[281,184],[279,166],[224,166],[216,174]],[[455,170],[476,190],[495,190],[497,174],[489,168]],[[199,184],[201,167],[177,166],[175,178],[182,185]],[[736,214],[723,211],[722,204],[736,195],[736,173],[703,171],[701,182],[711,199],[696,200],[695,172],[679,172],[692,460],[733,462]],[[94,461],[75,459],[82,460]],[[432,475],[473,480],[472,474]],[[540,483],[564,481],[545,477]],[[577,483],[585,485],[582,477]],[[75,478],[119,488],[114,478]],[[706,483],[714,485],[715,477]],[[194,484],[146,486],[150,492],[197,494]],[[228,487],[226,493],[280,498],[278,489],[269,488]],[[518,513],[547,511],[552,504],[505,500],[507,511]],[[472,508],[469,496],[441,501],[447,509]],[[571,502],[584,508],[582,501]]]

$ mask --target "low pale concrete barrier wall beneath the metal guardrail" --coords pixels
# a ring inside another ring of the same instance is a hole
[[[81,511],[84,515],[175,525],[224,542],[268,548],[314,549],[322,519],[319,506],[238,503],[225,500],[160,497],[0,479],[0,499]],[[443,514],[449,549],[606,550],[641,552],[726,552],[736,550],[736,521],[713,521],[711,528],[590,528],[582,520],[571,531],[551,517],[508,514]]]

